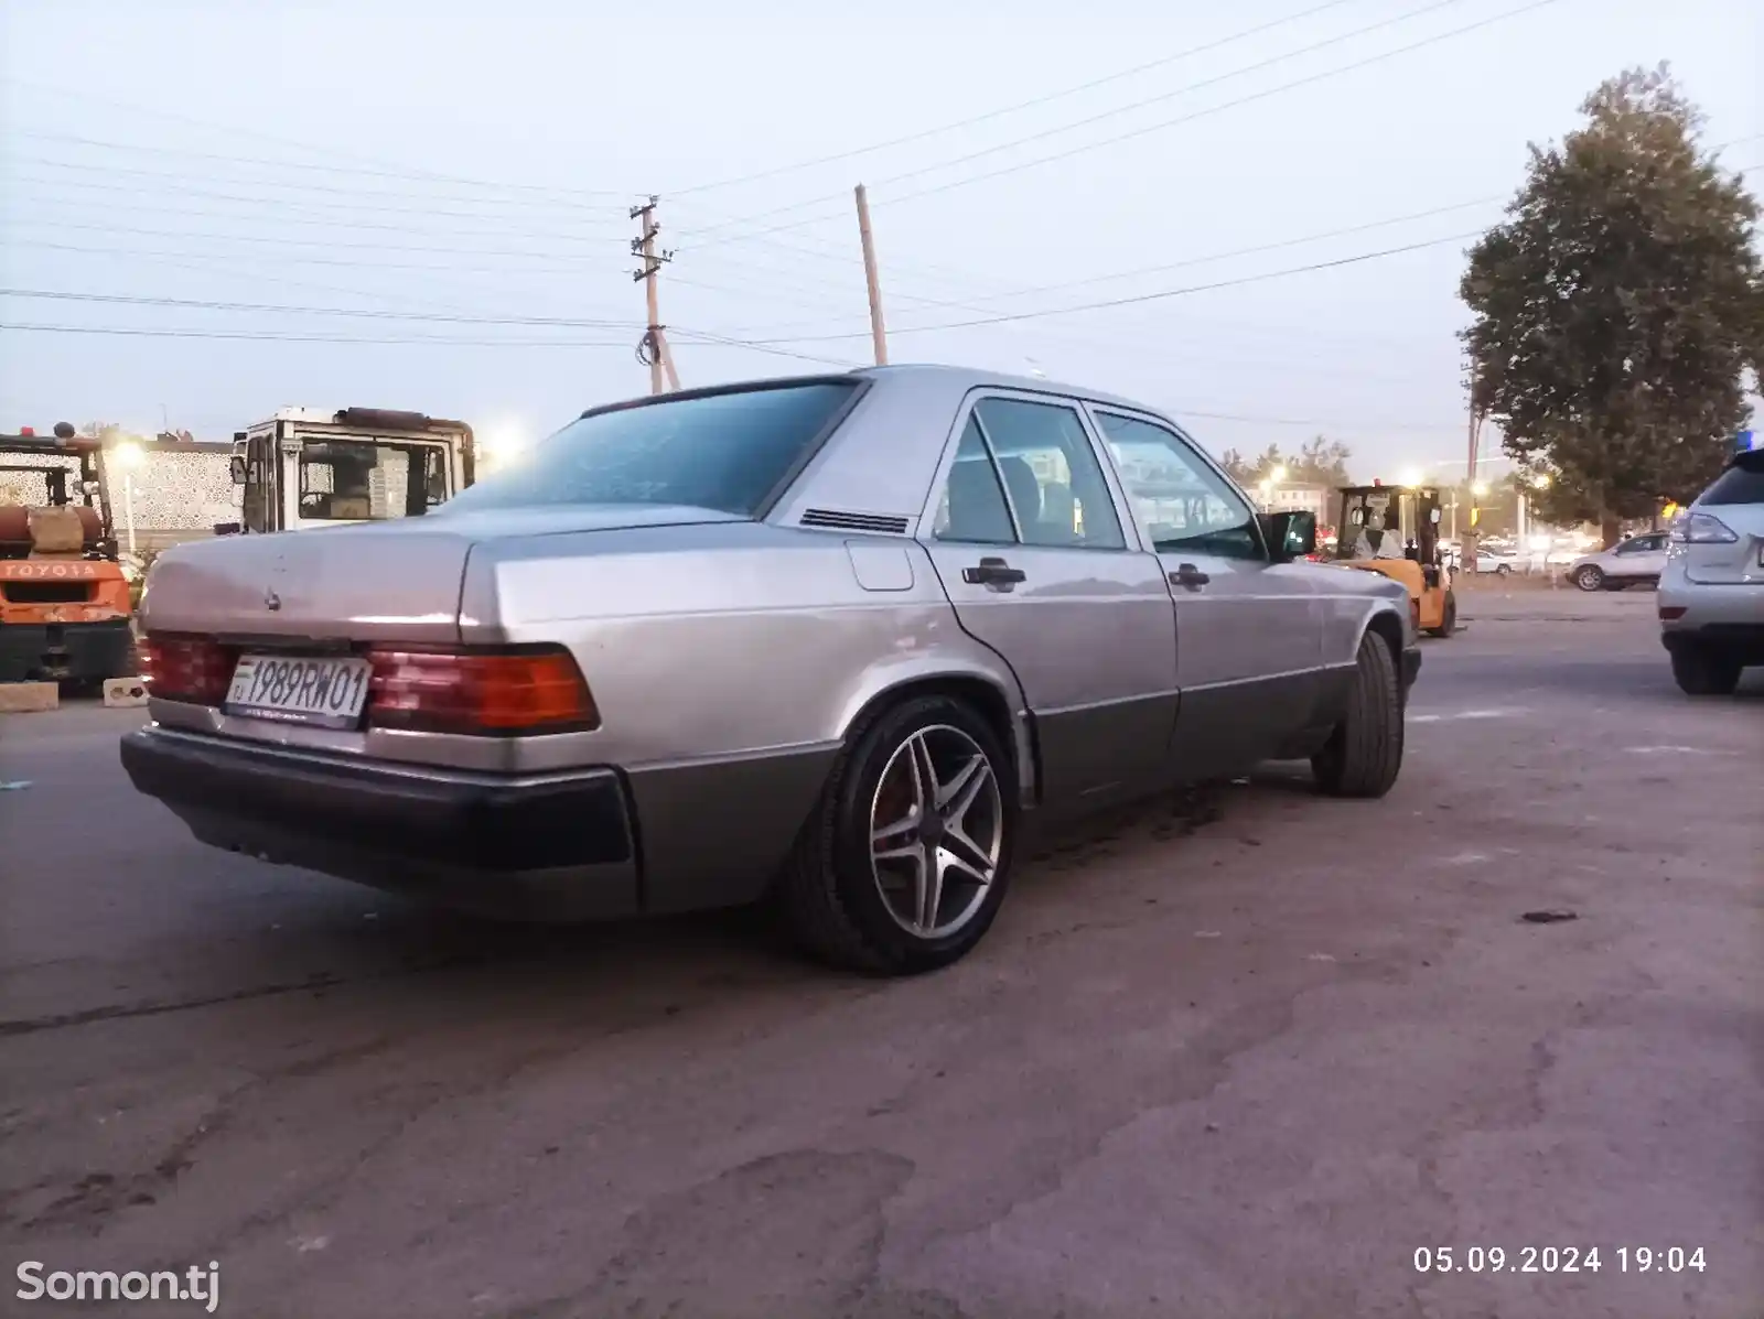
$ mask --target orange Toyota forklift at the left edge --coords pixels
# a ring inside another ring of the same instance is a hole
[[[104,443],[65,421],[0,436],[0,682],[125,677],[132,614]]]

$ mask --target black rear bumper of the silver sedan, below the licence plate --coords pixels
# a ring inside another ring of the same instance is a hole
[[[162,727],[123,737],[122,764],[196,838],[231,852],[508,919],[639,908],[632,811],[610,769],[418,772]]]

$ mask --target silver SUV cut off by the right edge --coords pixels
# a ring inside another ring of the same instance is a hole
[[[1764,665],[1764,436],[1746,430],[1727,471],[1672,524],[1658,591],[1660,640],[1692,697],[1722,697]]]

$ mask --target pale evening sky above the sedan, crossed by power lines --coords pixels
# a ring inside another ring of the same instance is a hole
[[[0,428],[547,434],[647,391],[651,194],[683,384],[864,365],[864,183],[894,361],[1455,474],[1528,143],[1669,60],[1759,178],[1760,49],[1757,0],[0,0]]]

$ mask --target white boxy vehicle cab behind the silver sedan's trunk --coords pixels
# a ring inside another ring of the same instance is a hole
[[[422,517],[476,476],[471,427],[379,407],[288,407],[233,436],[240,520],[220,533]]]

